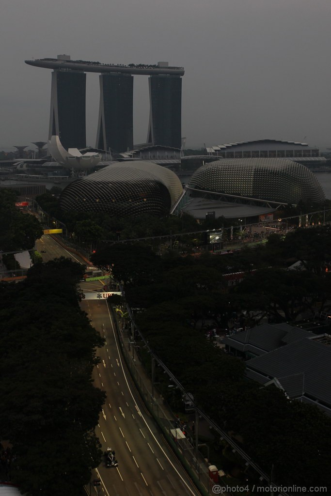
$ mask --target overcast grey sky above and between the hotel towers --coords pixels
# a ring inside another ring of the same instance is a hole
[[[330,26],[331,0],[2,0],[0,149],[47,140],[51,70],[24,60],[58,54],[184,66],[187,147],[267,138],[331,148]],[[92,146],[98,105],[89,73]],[[135,143],[148,113],[147,76],[135,76]]]

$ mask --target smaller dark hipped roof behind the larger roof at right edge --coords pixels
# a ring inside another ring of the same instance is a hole
[[[286,323],[273,325],[262,324],[228,336],[224,339],[224,342],[236,350],[242,352],[250,351],[255,355],[263,355],[280,346],[284,346],[284,344],[313,335],[309,331]]]

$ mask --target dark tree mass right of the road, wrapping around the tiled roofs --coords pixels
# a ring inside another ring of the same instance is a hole
[[[318,302],[327,308],[329,236],[328,228],[308,234],[298,230],[284,239],[272,236],[255,250],[198,258],[173,252],[157,257],[143,246],[118,245],[93,258],[125,283],[132,307],[145,309],[136,315],[139,329],[201,408],[238,434],[252,459],[266,473],[272,469],[274,480],[283,485],[331,484],[330,419],[315,406],[289,401],[275,386],[261,388],[247,381],[244,363],[214,347],[197,322],[212,319],[214,326],[225,329],[233,314],[243,316],[246,310],[243,323],[249,310],[292,322],[299,313],[316,309]],[[318,243],[321,253],[315,257]],[[303,247],[307,256],[300,257]],[[286,270],[298,259],[306,262],[305,270]],[[243,282],[229,287],[224,274],[239,271],[245,272]],[[150,367],[143,349],[140,356]],[[167,399],[176,402],[157,368],[155,380]]]

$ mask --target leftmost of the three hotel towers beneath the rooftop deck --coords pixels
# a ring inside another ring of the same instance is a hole
[[[49,140],[58,135],[64,148],[86,147],[86,74],[82,71],[52,72]]]

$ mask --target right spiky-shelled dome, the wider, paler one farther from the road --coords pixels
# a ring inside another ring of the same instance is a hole
[[[316,176],[304,165],[282,158],[231,158],[202,165],[192,175],[190,194],[224,194],[270,204],[322,202],[325,194]]]

